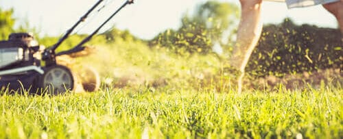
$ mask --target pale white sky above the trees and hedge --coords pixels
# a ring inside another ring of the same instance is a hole
[[[14,8],[17,25],[29,22],[30,26],[49,36],[64,34],[98,0],[0,0],[0,8]],[[90,16],[87,22],[76,29],[78,33],[91,33],[106,20],[125,0],[105,0],[106,8],[97,16]],[[218,0],[232,2],[239,6],[238,0]],[[177,29],[180,18],[206,0],[136,0],[117,14],[104,29],[115,27],[128,29],[143,39],[150,39],[165,29]],[[319,27],[337,28],[338,23],[321,5],[309,8],[287,10],[285,3],[263,2],[263,23],[281,23],[285,17],[297,24],[311,24]],[[100,31],[100,32],[101,32]],[[41,35],[42,35],[41,34]]]

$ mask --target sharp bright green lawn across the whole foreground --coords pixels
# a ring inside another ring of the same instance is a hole
[[[342,138],[342,88],[2,95],[0,138]]]

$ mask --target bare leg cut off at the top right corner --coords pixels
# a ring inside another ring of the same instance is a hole
[[[324,4],[323,7],[335,16],[340,25],[340,30],[343,34],[343,0]]]

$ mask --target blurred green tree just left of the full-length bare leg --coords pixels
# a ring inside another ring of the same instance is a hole
[[[210,53],[215,42],[222,43],[224,31],[237,21],[237,11],[232,3],[207,1],[193,16],[185,14],[179,29],[164,31],[150,41],[150,46],[161,45],[177,53]]]

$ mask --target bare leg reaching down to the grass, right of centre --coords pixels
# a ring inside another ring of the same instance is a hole
[[[238,93],[241,93],[242,79],[246,64],[261,36],[261,3],[262,0],[240,0],[241,21],[237,32],[237,42],[230,60],[232,66],[239,68]]]

